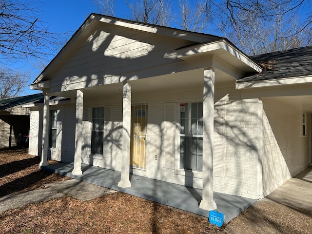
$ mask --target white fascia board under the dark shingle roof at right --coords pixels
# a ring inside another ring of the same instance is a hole
[[[236,89],[250,89],[250,88],[260,88],[260,87],[289,85],[289,84],[305,84],[305,83],[312,83],[312,76],[241,82],[241,83],[236,83],[235,88]]]

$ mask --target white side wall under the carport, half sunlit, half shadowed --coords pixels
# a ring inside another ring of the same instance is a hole
[[[301,136],[301,110],[273,98],[263,99],[263,109],[263,192],[268,195],[308,167],[310,146],[309,137]]]

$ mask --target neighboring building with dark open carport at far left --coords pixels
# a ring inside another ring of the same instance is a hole
[[[7,98],[0,101],[0,148],[16,146],[19,134],[29,134],[29,108],[22,105],[43,98],[42,94]]]

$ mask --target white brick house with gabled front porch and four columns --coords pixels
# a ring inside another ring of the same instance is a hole
[[[91,14],[31,85],[45,98],[29,153],[121,171],[120,187],[201,188],[206,210],[214,191],[261,198],[311,162],[311,66],[288,78],[276,55],[270,77],[227,39]]]

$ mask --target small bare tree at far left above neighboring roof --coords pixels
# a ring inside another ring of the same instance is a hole
[[[30,73],[19,72],[7,67],[0,67],[0,100],[13,98],[27,87]]]

